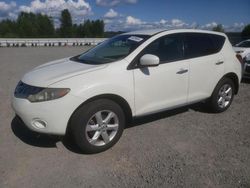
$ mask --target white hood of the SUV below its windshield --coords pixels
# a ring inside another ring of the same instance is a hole
[[[55,82],[59,82],[90,71],[102,69],[107,65],[89,65],[69,58],[52,61],[40,65],[24,75],[22,81],[26,84],[40,87],[47,87]]]

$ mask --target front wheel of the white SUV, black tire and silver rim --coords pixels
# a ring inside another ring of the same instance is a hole
[[[99,153],[120,139],[125,127],[121,107],[108,99],[89,102],[73,114],[70,128],[76,145],[83,153]]]

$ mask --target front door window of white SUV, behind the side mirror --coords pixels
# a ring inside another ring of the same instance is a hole
[[[183,42],[181,34],[161,37],[149,44],[143,54],[153,54],[160,58],[161,63],[183,59]]]

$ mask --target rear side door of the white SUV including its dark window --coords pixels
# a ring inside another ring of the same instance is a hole
[[[186,33],[185,58],[190,61],[188,102],[210,97],[224,75],[221,52],[225,37],[207,33]]]

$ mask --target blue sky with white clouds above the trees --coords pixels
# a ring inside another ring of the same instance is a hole
[[[20,11],[41,12],[59,25],[63,8],[76,23],[103,19],[106,30],[211,29],[223,24],[227,31],[240,31],[250,23],[250,0],[0,0],[0,19],[15,19]]]

